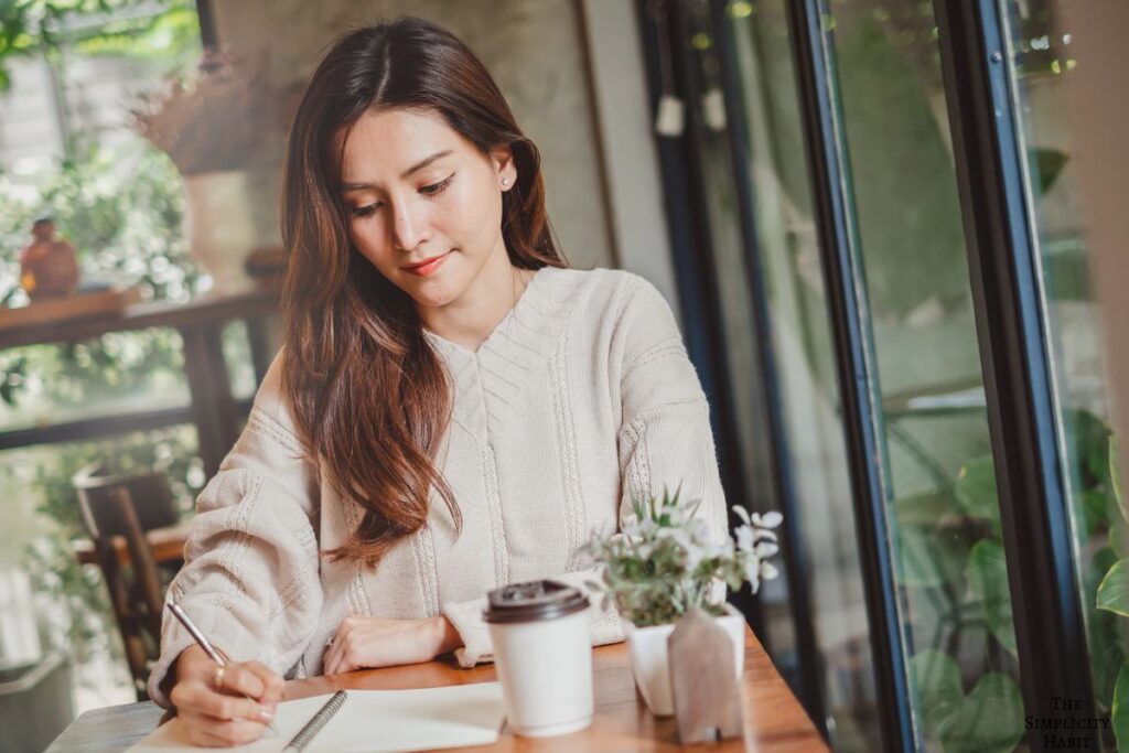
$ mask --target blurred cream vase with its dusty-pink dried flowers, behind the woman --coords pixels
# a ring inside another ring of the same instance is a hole
[[[261,70],[207,51],[196,76],[170,78],[131,111],[134,130],[184,178],[189,249],[216,289],[250,281],[244,262],[268,233],[256,219],[263,212],[256,212],[253,170],[277,161],[290,99]]]

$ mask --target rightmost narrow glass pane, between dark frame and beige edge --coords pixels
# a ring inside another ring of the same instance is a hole
[[[1124,544],[1129,528],[1110,479],[1102,325],[1089,283],[1071,159],[1077,145],[1070,138],[1068,94],[1076,64],[1070,29],[1059,6],[1051,0],[1003,3],[1017,120],[1029,157],[1027,203],[1038,234],[1047,340],[1066,439],[1064,478],[1069,483],[1094,700],[1099,712],[1109,713],[1114,681],[1126,660],[1120,636],[1129,623],[1113,612],[1097,610],[1096,593],[1113,562],[1129,555]],[[1114,748],[1112,736],[1103,743],[1108,750]]]

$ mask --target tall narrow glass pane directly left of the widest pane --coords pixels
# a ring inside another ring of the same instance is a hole
[[[807,558],[820,654],[803,658],[819,662],[835,750],[872,751],[881,736],[870,639],[785,0],[729,3],[727,23],[750,139],[751,211],[795,484],[791,514]],[[771,632],[785,632],[776,623],[786,612],[768,616]],[[771,648],[774,660],[786,660],[776,642]]]

